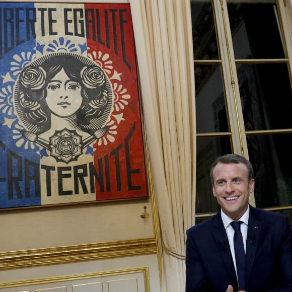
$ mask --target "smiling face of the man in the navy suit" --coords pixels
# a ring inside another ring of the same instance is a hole
[[[248,207],[249,194],[254,190],[254,179],[248,182],[245,164],[218,163],[213,170],[213,195],[225,214],[239,220]]]

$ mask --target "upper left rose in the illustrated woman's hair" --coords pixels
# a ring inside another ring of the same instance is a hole
[[[41,89],[45,84],[46,71],[42,67],[26,67],[21,74],[21,84],[32,90]]]

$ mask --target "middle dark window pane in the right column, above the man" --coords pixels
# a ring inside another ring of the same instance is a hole
[[[292,96],[285,63],[238,64],[246,130],[292,128]]]

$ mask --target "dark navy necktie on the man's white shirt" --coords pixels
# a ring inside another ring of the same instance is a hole
[[[242,234],[240,231],[240,225],[242,221],[233,221],[230,223],[234,229],[234,251],[235,251],[235,260],[237,268],[237,278],[239,290],[244,290],[244,263],[245,263],[245,252]]]

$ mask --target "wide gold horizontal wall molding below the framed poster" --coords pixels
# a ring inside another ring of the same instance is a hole
[[[99,259],[157,254],[155,238],[0,253],[0,271]]]

